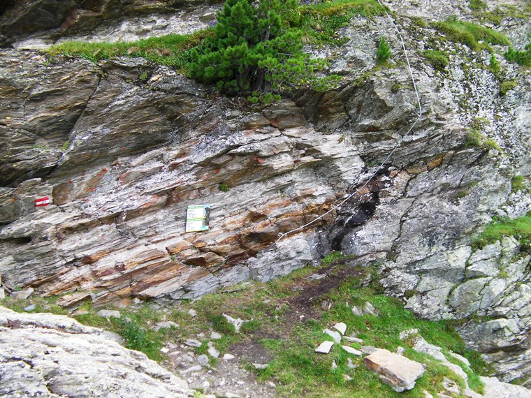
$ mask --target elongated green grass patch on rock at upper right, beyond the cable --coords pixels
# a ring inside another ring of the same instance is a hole
[[[462,43],[477,52],[481,50],[490,51],[489,44],[511,44],[507,36],[498,31],[483,27],[480,24],[459,21],[457,18],[449,18],[444,22],[434,22],[432,27],[446,35],[446,38],[454,43]],[[480,41],[483,43],[479,43]]]

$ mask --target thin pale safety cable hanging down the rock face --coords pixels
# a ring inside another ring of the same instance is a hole
[[[351,198],[353,198],[356,194],[358,194],[360,191],[362,191],[363,188],[365,188],[365,186],[367,186],[372,181],[372,179],[374,177],[376,177],[376,175],[379,172],[379,170],[381,170],[381,168],[384,167],[384,165],[391,158],[391,156],[393,156],[395,151],[400,147],[400,145],[402,145],[402,142],[404,142],[405,138],[409,135],[409,133],[411,133],[413,131],[413,128],[416,126],[416,124],[419,123],[419,121],[421,120],[421,117],[422,117],[422,114],[423,114],[422,104],[421,104],[421,96],[419,95],[419,89],[417,88],[416,81],[415,81],[415,78],[413,76],[413,70],[412,70],[412,67],[411,67],[411,63],[409,62],[409,57],[407,56],[407,49],[406,49],[406,45],[405,45],[405,42],[404,42],[404,38],[402,37],[402,34],[400,33],[400,29],[398,29],[398,26],[395,24],[395,21],[393,20],[391,15],[389,15],[389,13],[387,12],[387,8],[384,6],[384,4],[381,3],[380,0],[377,0],[377,1],[378,1],[379,5],[381,6],[381,8],[384,8],[384,11],[385,11],[387,17],[391,21],[391,24],[393,24],[393,27],[395,28],[395,31],[397,31],[398,36],[400,37],[400,42],[402,43],[402,49],[404,50],[404,54],[405,54],[405,57],[406,57],[407,68],[409,70],[409,76],[411,77],[411,80],[413,82],[413,88],[415,90],[415,95],[416,95],[416,101],[419,104],[419,113],[417,114],[416,120],[413,122],[412,126],[409,127],[409,130],[407,131],[407,133],[405,133],[405,135],[402,137],[400,142],[398,142],[395,145],[393,150],[391,150],[391,152],[389,152],[389,154],[386,156],[386,159],[384,159],[384,161],[381,162],[381,164],[378,166],[378,168],[372,173],[372,175],[370,175],[369,179],[367,181],[365,181],[365,183],[359,189],[357,189],[356,191],[351,193],[349,196],[344,198],[344,200],[342,200],[339,204],[333,206],[327,212],[321,214],[320,216],[316,217],[312,221],[310,221],[308,223],[305,223],[303,226],[300,226],[298,228],[294,228],[293,230],[289,230],[288,232],[281,234],[279,236],[279,238],[275,241],[275,244],[277,242],[279,242],[279,240],[281,240],[282,238],[284,238],[284,237],[286,237],[288,235],[291,235],[292,233],[295,233],[295,232],[297,232],[299,230],[303,230],[307,226],[311,226],[313,223],[315,223],[316,221],[319,221],[320,219],[323,219],[324,216],[327,216],[328,214],[330,214],[334,210],[340,209],[342,207],[342,205],[344,205],[346,202],[351,200]]]

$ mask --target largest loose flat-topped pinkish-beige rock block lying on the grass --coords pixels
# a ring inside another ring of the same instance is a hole
[[[412,390],[425,371],[423,364],[387,350],[378,350],[363,358],[368,369],[376,371],[381,380],[396,392]]]

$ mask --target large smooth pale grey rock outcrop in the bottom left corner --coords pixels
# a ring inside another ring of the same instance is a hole
[[[0,307],[2,397],[193,397],[187,382],[67,316]]]

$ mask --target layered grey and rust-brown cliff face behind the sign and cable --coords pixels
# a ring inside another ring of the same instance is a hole
[[[465,7],[440,3],[439,20]],[[68,293],[65,305],[195,299],[342,250],[379,267],[386,291],[419,316],[465,319],[460,332],[499,376],[529,383],[530,255],[514,237],[471,244],[493,216],[530,209],[511,178],[531,173],[531,76],[498,56],[517,83],[500,95],[490,54],[419,26],[408,15],[421,9],[400,8],[420,123],[346,205],[278,242],[361,186],[416,118],[386,18],[355,18],[342,29],[346,46],[322,50],[335,59],[330,71],[345,75],[340,89],[261,110],[143,59],[94,65],[3,50],[3,280]],[[522,20],[502,26],[515,43],[522,23],[529,29]],[[398,62],[391,68],[374,68],[382,34]],[[429,40],[451,54],[444,73],[421,57]],[[466,147],[473,124],[500,150]],[[35,208],[43,196],[53,204]],[[210,230],[184,233],[185,209],[198,204],[212,205]]]

